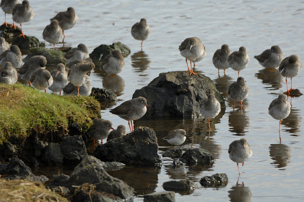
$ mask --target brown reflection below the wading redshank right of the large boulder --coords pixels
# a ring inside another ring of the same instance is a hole
[[[236,133],[235,135],[245,135],[246,129],[249,127],[249,117],[245,110],[230,111],[228,116],[229,131]]]

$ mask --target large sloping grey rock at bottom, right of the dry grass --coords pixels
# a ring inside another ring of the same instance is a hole
[[[134,189],[122,180],[110,176],[94,156],[86,156],[70,175],[70,185],[95,184],[95,190],[113,194],[121,199],[133,200]]]

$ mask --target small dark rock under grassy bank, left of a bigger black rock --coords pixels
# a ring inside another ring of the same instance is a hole
[[[60,145],[58,143],[50,142],[45,148],[43,160],[48,165],[62,165],[63,154],[60,150]]]

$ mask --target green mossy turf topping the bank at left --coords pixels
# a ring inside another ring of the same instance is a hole
[[[91,118],[100,118],[100,104],[92,97],[46,94],[22,84],[0,84],[0,97],[0,144],[21,146],[38,133],[54,140],[67,134],[71,123],[86,131]]]

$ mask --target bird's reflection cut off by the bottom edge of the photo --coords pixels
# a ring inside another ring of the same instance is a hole
[[[241,184],[231,187],[231,190],[228,191],[228,197],[231,202],[250,202],[252,193],[249,187],[245,187]]]

